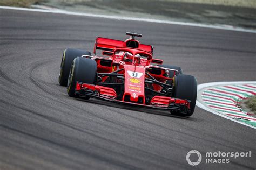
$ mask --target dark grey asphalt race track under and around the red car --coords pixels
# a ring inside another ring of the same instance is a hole
[[[58,84],[63,50],[93,51],[97,36],[126,31],[198,84],[256,78],[253,33],[0,9],[0,169],[255,169],[255,129],[198,107],[183,118],[68,96]],[[198,166],[187,164],[190,150],[203,155]],[[252,155],[206,164],[218,151]]]

